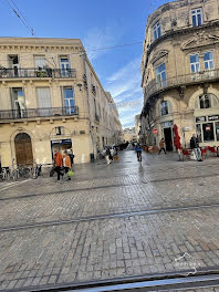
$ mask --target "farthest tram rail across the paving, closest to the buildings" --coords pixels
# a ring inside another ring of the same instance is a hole
[[[219,174],[211,174],[211,175],[202,175],[202,176],[173,177],[173,178],[163,178],[163,179],[154,179],[154,180],[152,179],[148,181],[139,180],[137,182],[131,182],[131,184],[102,185],[102,186],[88,187],[88,188],[72,188],[72,189],[54,190],[54,191],[48,191],[48,192],[28,194],[23,196],[4,197],[4,198],[0,198],[0,202],[8,201],[8,200],[27,199],[27,198],[32,198],[32,197],[54,196],[58,194],[69,194],[69,192],[87,191],[87,190],[106,189],[106,188],[109,189],[109,188],[117,188],[117,187],[137,186],[139,184],[149,185],[149,184],[159,184],[159,182],[165,182],[165,181],[168,182],[168,181],[218,177],[218,176]],[[86,181],[86,180],[83,180],[83,181]],[[69,184],[69,181],[63,181],[63,182],[58,182],[58,184]]]

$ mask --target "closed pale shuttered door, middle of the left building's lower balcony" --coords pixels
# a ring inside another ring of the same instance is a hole
[[[40,116],[50,116],[52,113],[52,103],[49,87],[38,87],[38,107]]]

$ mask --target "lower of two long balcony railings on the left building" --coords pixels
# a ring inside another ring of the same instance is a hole
[[[32,117],[58,117],[79,115],[79,107],[45,107],[45,108],[27,108],[0,111],[1,119],[18,119]]]

